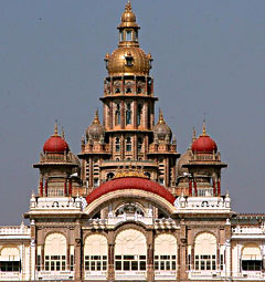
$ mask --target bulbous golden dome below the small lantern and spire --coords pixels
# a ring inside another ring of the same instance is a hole
[[[148,75],[151,60],[140,48],[119,46],[108,59],[108,73],[109,75]]]

